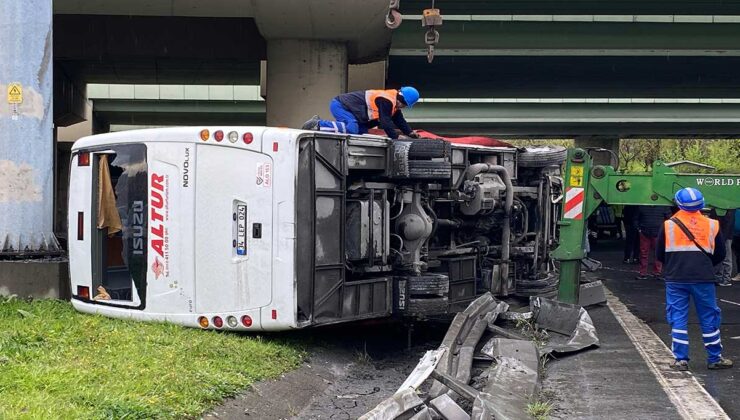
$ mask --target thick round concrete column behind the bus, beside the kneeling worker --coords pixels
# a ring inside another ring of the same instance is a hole
[[[314,114],[331,118],[329,102],[347,90],[342,42],[267,42],[267,125],[299,128]]]

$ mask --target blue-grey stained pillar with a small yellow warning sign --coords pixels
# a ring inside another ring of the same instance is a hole
[[[52,61],[52,0],[0,1],[0,256],[57,247]]]

